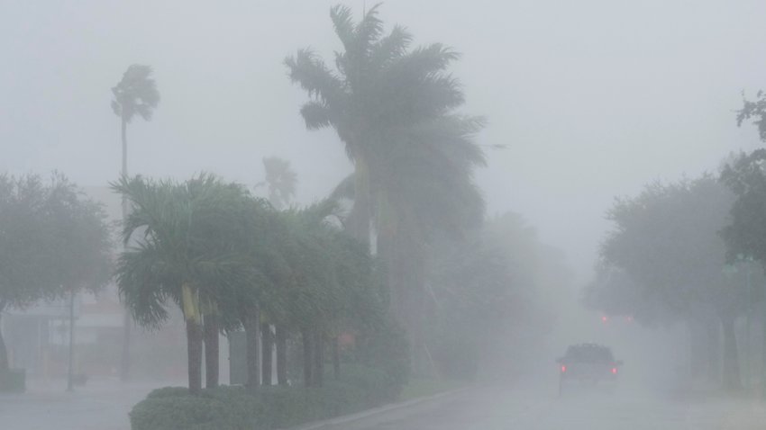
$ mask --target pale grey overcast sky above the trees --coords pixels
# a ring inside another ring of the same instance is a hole
[[[282,60],[340,49],[335,3],[0,0],[0,171],[114,180],[110,88],[142,63],[162,101],[128,130],[132,174],[255,184],[261,157],[278,156],[295,166],[301,202],[321,198],[351,164],[332,131],[304,129],[305,94]],[[463,111],[488,118],[479,143],[508,146],[477,176],[490,214],[524,214],[579,282],[616,195],[759,145],[734,110],[741,91],[766,89],[766,1],[388,0],[380,14],[416,43],[461,51]]]

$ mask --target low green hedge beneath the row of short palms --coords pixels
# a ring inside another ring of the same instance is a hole
[[[269,430],[338,417],[396,399],[401,385],[386,372],[343,368],[322,388],[222,386],[192,396],[186,388],[150,392],[130,413],[132,430]]]

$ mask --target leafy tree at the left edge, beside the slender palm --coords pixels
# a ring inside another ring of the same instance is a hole
[[[63,175],[49,184],[38,175],[0,175],[0,313],[109,282],[105,218]],[[7,370],[0,335],[0,372]]]

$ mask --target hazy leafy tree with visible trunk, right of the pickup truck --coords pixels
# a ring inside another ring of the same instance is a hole
[[[724,385],[741,387],[734,320],[749,291],[725,267],[724,228],[734,195],[710,175],[677,184],[651,184],[608,212],[615,223],[602,246],[605,264],[627,274],[639,297],[662,303],[686,320],[715,316],[723,327]],[[625,287],[624,282],[620,282]]]

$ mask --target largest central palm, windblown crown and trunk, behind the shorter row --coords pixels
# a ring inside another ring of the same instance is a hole
[[[485,162],[473,142],[484,121],[455,112],[464,103],[460,83],[446,71],[459,58],[455,51],[439,43],[410,49],[413,38],[400,26],[384,35],[377,5],[357,23],[345,6],[330,16],[344,48],[337,68],[311,49],[285,63],[310,97],[301,108],[306,128],[332,127],[354,164],[347,225],[368,242],[375,221],[394,311],[416,351],[433,232],[460,233],[483,216],[472,174]]]

